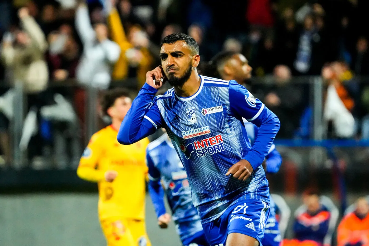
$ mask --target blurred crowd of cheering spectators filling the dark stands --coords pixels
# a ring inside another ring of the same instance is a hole
[[[321,75],[327,137],[369,139],[366,0],[1,0],[0,9],[0,80],[26,94],[21,147],[34,148],[30,158],[45,149],[29,142],[52,141],[55,121],[65,138],[81,130],[70,122],[82,122],[84,131],[86,88],[139,89],[160,64],[161,38],[173,32],[192,36],[202,61],[221,50],[248,58],[251,91],[281,119],[277,138],[312,136],[311,83],[292,81]],[[68,81],[76,86],[65,87]],[[14,115],[7,88],[0,87],[6,162]]]

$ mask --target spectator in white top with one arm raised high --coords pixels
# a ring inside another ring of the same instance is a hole
[[[111,67],[119,59],[120,48],[108,39],[104,23],[91,25],[85,3],[80,3],[75,16],[76,29],[83,43],[83,55],[77,67],[77,80],[84,85],[107,89],[111,80]]]

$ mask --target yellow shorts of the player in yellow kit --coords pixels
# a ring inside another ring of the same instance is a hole
[[[116,217],[100,223],[107,246],[151,246],[143,220]]]

